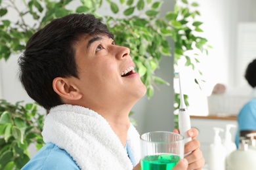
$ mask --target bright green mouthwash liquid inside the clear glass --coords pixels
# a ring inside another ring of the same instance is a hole
[[[177,164],[180,157],[177,155],[160,154],[146,156],[141,160],[141,170],[170,170]]]

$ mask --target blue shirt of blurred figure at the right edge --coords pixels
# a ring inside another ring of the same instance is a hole
[[[238,114],[238,131],[236,132],[236,147],[239,146],[239,136],[242,130],[256,130],[256,98],[251,99]]]

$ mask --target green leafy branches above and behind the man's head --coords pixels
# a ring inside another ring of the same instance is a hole
[[[95,14],[102,18],[114,33],[116,44],[131,49],[131,56],[137,66],[135,69],[146,85],[148,98],[154,95],[156,84],[168,84],[154,74],[162,56],[171,56],[173,50],[175,65],[179,59],[185,58],[185,65],[195,69],[200,62],[199,54],[196,52],[193,56],[188,56],[186,52],[194,49],[201,53],[207,52],[207,40],[197,36],[202,32],[202,22],[196,20],[196,16],[200,15],[196,10],[198,3],[177,0],[175,10],[160,17],[158,14],[164,0],[119,0],[118,3],[106,0],[104,2],[109,5],[112,16],[99,14],[103,0],[80,0],[79,5],[73,9],[70,7],[72,1],[74,0],[24,0],[25,7],[20,9],[14,0],[0,0],[0,59],[7,60],[11,54],[22,52],[35,31],[54,18],[73,12]],[[17,20],[13,21],[8,16],[10,9],[16,11]],[[26,18],[33,18],[33,24]],[[171,49],[168,39],[175,42],[174,49]],[[195,82],[198,83],[198,80]],[[176,96],[178,95],[175,95],[175,101],[178,101]]]

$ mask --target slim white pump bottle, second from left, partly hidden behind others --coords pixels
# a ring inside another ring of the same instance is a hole
[[[223,146],[226,148],[226,169],[228,169],[228,163],[227,158],[231,152],[236,150],[236,144],[232,140],[232,135],[230,133],[231,127],[236,127],[234,124],[227,124],[226,125],[226,131],[225,131],[225,137],[223,140]]]

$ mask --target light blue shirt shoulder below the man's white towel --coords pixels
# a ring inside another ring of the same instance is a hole
[[[79,170],[70,154],[53,143],[47,143],[41,148],[22,170]]]

